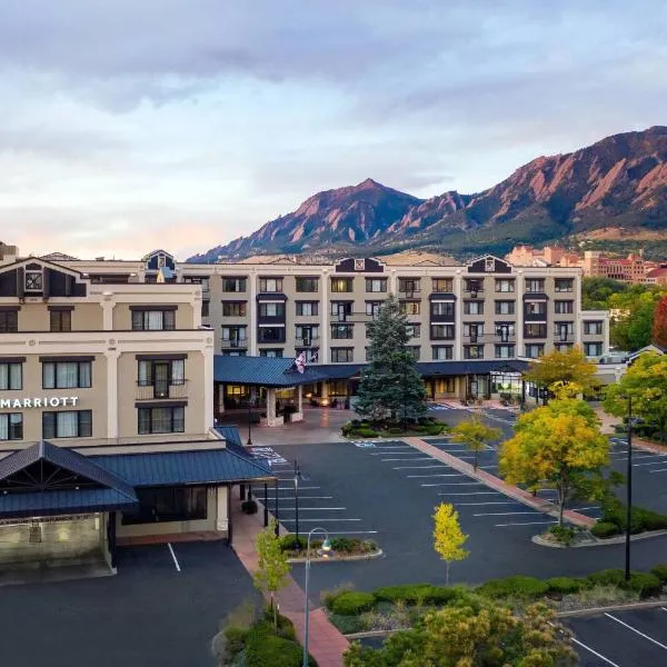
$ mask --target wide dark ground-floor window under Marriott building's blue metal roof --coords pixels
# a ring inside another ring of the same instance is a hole
[[[122,514],[122,525],[197,521],[208,517],[206,487],[137,489],[139,508]]]

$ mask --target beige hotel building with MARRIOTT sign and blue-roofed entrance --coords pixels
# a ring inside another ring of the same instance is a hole
[[[203,286],[67,263],[0,263],[0,573],[230,539],[231,485],[273,478],[213,428]]]

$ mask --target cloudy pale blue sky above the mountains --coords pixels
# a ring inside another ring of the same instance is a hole
[[[0,240],[179,259],[667,125],[664,0],[0,2]]]

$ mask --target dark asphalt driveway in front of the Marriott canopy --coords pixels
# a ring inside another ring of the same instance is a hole
[[[120,549],[116,577],[0,589],[3,665],[212,667],[220,620],[255,589],[222,542]]]

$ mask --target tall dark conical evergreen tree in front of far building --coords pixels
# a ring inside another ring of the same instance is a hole
[[[414,421],[427,411],[426,388],[408,349],[407,318],[389,295],[368,325],[368,368],[361,374],[355,410],[372,420]]]

